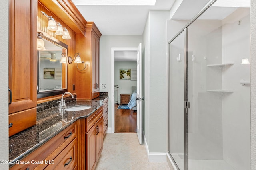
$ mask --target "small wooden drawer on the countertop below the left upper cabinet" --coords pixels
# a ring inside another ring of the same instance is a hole
[[[9,137],[36,124],[36,107],[9,115]]]

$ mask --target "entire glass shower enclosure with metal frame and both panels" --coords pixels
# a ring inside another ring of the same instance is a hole
[[[169,154],[180,170],[250,170],[250,8],[214,2],[169,41]]]

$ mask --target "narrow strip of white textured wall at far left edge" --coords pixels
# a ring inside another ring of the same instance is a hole
[[[8,147],[8,2],[0,1],[0,160],[9,160]],[[8,169],[8,164],[0,164],[0,169]]]

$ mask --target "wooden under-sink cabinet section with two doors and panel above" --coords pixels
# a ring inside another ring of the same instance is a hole
[[[103,149],[102,107],[85,120],[86,170],[94,170]]]

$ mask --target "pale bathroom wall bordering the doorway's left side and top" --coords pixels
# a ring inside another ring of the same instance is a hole
[[[138,48],[142,35],[102,35],[100,38],[100,92],[108,92],[108,125],[111,127],[111,48]],[[102,84],[106,88],[102,89]]]

